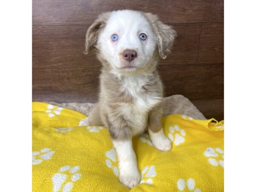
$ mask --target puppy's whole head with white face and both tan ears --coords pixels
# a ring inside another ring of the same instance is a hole
[[[102,64],[116,73],[154,70],[166,58],[176,32],[156,15],[131,10],[99,15],[86,33],[85,53],[96,52]]]

